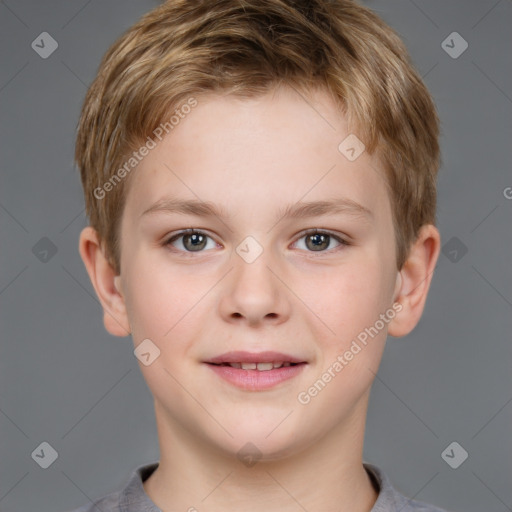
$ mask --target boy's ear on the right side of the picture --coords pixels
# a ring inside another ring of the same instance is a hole
[[[409,334],[420,321],[430,282],[441,248],[441,236],[432,224],[420,228],[407,261],[397,275],[395,302],[402,309],[388,324],[388,334],[400,338]]]

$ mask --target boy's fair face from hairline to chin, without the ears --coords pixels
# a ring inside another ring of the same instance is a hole
[[[133,171],[121,225],[127,321],[135,346],[149,338],[160,350],[140,364],[160,435],[231,454],[251,442],[269,458],[326,435],[360,439],[388,323],[366,345],[357,337],[375,332],[398,285],[383,169],[366,152],[350,161],[338,150],[349,133],[324,92],[196,98]],[[225,216],[173,213],[166,200],[209,202]],[[283,217],[288,206],[341,200],[369,213]],[[167,243],[188,228],[200,234]],[[316,237],[303,233],[315,228]],[[243,389],[206,363],[231,351],[306,364],[274,386]],[[329,368],[330,382],[308,393]]]

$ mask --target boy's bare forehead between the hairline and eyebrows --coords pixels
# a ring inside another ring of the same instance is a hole
[[[127,198],[134,214],[169,196],[235,215],[339,197],[389,210],[378,158],[362,150],[324,91],[195,99],[135,169]]]

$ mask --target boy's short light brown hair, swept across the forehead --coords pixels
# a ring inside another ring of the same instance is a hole
[[[402,268],[420,227],[436,223],[440,151],[435,105],[398,35],[352,0],[169,0],[107,51],[78,125],[86,213],[117,272],[131,153],[194,96],[283,84],[325,89],[378,151]]]

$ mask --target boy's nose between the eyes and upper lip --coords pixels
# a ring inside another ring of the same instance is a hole
[[[249,263],[233,251],[234,268],[227,276],[219,303],[225,321],[257,327],[265,323],[278,325],[289,318],[287,287],[266,252]]]

